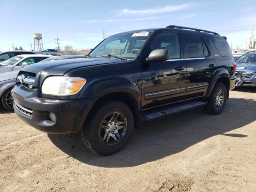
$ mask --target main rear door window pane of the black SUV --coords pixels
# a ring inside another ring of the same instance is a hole
[[[183,34],[186,58],[204,57],[202,39],[199,35]]]

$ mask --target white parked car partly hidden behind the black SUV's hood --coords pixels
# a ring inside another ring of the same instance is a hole
[[[0,73],[17,71],[17,70],[20,70],[22,67],[40,62],[49,57],[53,57],[53,56],[52,55],[43,55],[43,54],[18,55],[18,56],[12,57],[8,60],[1,62],[0,63]]]

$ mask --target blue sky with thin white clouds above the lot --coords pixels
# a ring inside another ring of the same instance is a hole
[[[11,44],[30,50],[33,34],[42,33],[44,48],[93,48],[106,36],[174,24],[218,32],[242,48],[256,28],[255,0],[0,0],[0,50]],[[254,32],[256,38],[256,32]]]

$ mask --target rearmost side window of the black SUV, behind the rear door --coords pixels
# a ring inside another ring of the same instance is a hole
[[[228,42],[224,38],[210,37],[219,54],[223,57],[233,57]]]

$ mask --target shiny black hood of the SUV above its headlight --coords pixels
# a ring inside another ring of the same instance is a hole
[[[98,59],[98,58],[79,58],[79,59],[67,59],[67,60],[52,60],[46,62],[38,62],[33,65],[28,65],[22,69],[22,71],[39,70],[47,75],[64,75],[67,71],[92,65],[124,62],[126,60],[119,59]],[[1,68],[0,68],[1,69]]]

